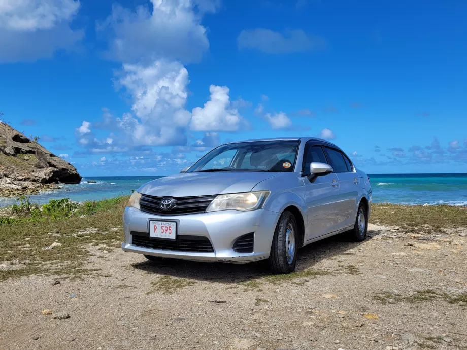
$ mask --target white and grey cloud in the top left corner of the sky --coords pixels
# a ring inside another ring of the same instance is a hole
[[[84,37],[72,30],[78,13],[74,0],[0,0],[0,62],[50,58],[59,49],[72,50]]]

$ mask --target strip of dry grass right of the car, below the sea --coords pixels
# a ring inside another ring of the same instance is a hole
[[[401,226],[407,231],[419,228],[440,233],[442,228],[467,227],[467,208],[449,205],[372,204],[370,222]]]

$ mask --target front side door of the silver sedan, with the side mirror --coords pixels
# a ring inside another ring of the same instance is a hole
[[[308,217],[305,241],[336,231],[340,224],[339,179],[335,173],[310,176],[311,162],[327,163],[327,160],[321,146],[309,141],[305,145],[302,169]]]

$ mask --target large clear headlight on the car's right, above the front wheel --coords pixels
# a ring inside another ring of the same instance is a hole
[[[220,210],[249,211],[262,207],[264,200],[268,198],[270,191],[256,191],[246,193],[220,194],[209,204],[206,212]]]

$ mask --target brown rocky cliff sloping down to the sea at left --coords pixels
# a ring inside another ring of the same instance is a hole
[[[80,174],[69,162],[0,123],[0,197],[37,193],[80,181]]]

